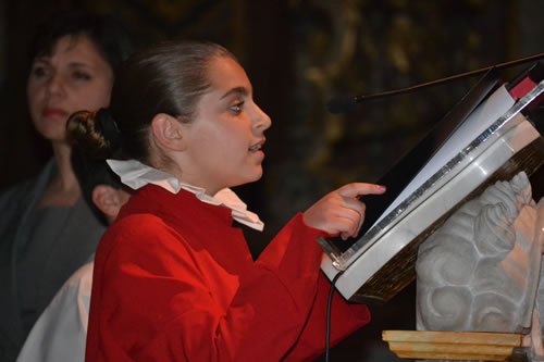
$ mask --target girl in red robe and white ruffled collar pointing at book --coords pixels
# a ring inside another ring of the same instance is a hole
[[[108,110],[71,137],[137,191],[98,248],[87,361],[301,361],[325,347],[331,287],[321,235],[354,236],[383,187],[349,184],[298,213],[254,261],[237,223],[262,229],[228,188],[262,175],[270,117],[232,53],[168,42],[133,57]],[[124,161],[120,161],[124,160]],[[367,324],[334,296],[332,344]]]

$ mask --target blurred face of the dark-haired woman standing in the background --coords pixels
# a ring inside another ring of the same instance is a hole
[[[64,141],[76,111],[97,111],[110,102],[113,71],[86,36],[66,35],[50,55],[34,60],[27,83],[30,117],[46,139]]]

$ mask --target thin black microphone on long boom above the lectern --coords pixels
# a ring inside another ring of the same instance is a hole
[[[344,97],[344,98],[338,97],[338,98],[332,99],[326,104],[326,109],[332,114],[348,113],[348,112],[351,112],[358,104],[360,104],[360,103],[362,103],[362,102],[364,102],[367,100],[373,100],[373,99],[380,99],[380,98],[385,98],[385,97],[392,97],[392,96],[403,95],[403,93],[415,91],[415,90],[418,90],[418,89],[421,89],[421,88],[436,86],[436,85],[440,85],[440,84],[443,84],[443,83],[447,83],[447,82],[452,82],[452,80],[455,80],[455,79],[460,79],[460,78],[466,78],[466,77],[469,77],[469,76],[472,76],[472,75],[482,74],[482,73],[485,73],[485,72],[487,72],[487,71],[490,71],[492,68],[500,70],[500,68],[505,68],[505,67],[509,67],[509,66],[514,66],[514,65],[527,63],[527,62],[530,62],[530,61],[533,61],[533,60],[539,60],[539,59],[542,59],[542,58],[544,58],[544,53],[540,53],[540,54],[534,54],[534,55],[530,55],[530,57],[527,57],[527,58],[517,59],[517,60],[514,60],[514,61],[510,61],[510,62],[506,62],[506,63],[502,63],[502,64],[496,64],[496,65],[483,67],[483,68],[477,70],[477,71],[471,71],[471,72],[467,72],[467,73],[461,73],[461,74],[453,75],[450,77],[446,77],[446,78],[442,78],[442,79],[436,79],[436,80],[432,80],[432,82],[419,84],[417,86],[411,86],[411,87],[407,87],[407,88],[401,88],[401,89],[396,89],[396,90],[381,91],[381,92],[371,93],[371,95],[368,95],[368,96],[355,96],[355,97]]]

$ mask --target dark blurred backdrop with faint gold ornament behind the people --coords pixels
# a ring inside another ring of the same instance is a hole
[[[137,46],[188,38],[219,42],[246,68],[272,117],[264,176],[237,189],[265,221],[248,235],[255,255],[296,212],[349,182],[375,182],[475,84],[463,78],[333,115],[337,96],[431,82],[544,51],[539,0],[1,0],[0,189],[35,175],[51,155],[26,108],[28,42],[61,9],[111,13]],[[527,65],[502,72],[514,78]],[[331,359],[397,361],[383,329],[415,329],[415,287],[371,305],[371,324]],[[334,323],[334,321],[333,321]]]

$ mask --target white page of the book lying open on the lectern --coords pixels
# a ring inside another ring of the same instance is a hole
[[[515,103],[505,86],[498,88],[482,102],[457,128],[443,147],[431,158],[428,164],[413,177],[408,186],[378,219],[372,227],[398,207],[406,198],[438,172],[449,160],[469,146],[480,134],[495,123]]]

